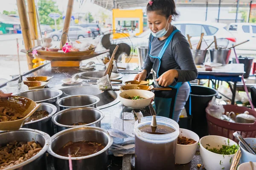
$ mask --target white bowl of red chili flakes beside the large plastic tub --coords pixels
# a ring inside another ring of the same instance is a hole
[[[196,149],[198,147],[199,136],[191,130],[182,128],[180,128],[179,136],[184,136],[188,139],[193,139],[196,141],[194,144],[177,144],[176,146],[175,163],[187,164],[193,159],[193,156],[195,155]]]

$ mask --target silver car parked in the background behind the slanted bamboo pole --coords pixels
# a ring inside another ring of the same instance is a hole
[[[58,41],[61,40],[61,35],[62,29],[49,33],[48,37],[52,37],[52,40]],[[70,26],[68,31],[68,37],[70,40],[91,37],[91,30],[89,28],[83,28],[80,26]]]

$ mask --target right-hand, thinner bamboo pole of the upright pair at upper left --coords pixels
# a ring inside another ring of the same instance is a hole
[[[27,0],[28,2],[28,14],[29,14],[29,29],[31,34],[32,46],[35,46],[35,40],[37,37],[37,24],[36,24],[36,12],[34,0]]]

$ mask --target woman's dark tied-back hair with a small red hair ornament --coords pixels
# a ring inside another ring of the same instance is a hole
[[[147,12],[156,11],[158,14],[163,15],[166,19],[172,15],[177,17],[179,14],[176,11],[174,0],[151,0],[147,5]]]

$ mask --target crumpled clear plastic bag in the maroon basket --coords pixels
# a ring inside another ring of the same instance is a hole
[[[222,113],[225,112],[223,105],[215,102],[215,96],[213,96],[212,100],[209,102],[206,112],[211,116],[221,119]]]

